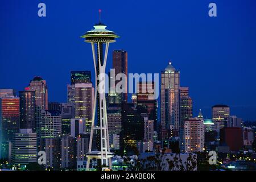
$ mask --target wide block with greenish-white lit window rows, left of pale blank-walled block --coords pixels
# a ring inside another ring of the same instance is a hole
[[[61,114],[56,110],[42,110],[40,138],[55,138],[61,134]]]

